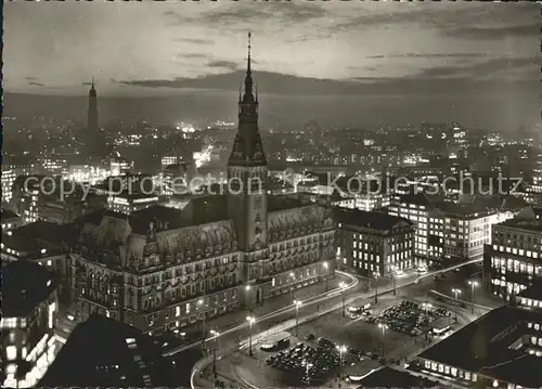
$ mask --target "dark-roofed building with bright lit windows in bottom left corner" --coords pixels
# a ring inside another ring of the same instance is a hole
[[[31,388],[55,356],[56,280],[21,260],[2,268],[2,387]]]

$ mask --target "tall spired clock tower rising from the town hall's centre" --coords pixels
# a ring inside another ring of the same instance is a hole
[[[258,131],[258,94],[253,93],[250,69],[250,33],[245,91],[238,100],[238,127],[233,150],[228,160],[228,211],[237,233],[242,251],[243,280],[253,288],[261,276],[261,267],[268,258],[267,190],[268,163]],[[253,290],[259,300],[260,291]]]

